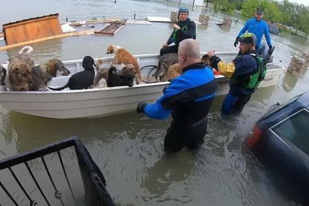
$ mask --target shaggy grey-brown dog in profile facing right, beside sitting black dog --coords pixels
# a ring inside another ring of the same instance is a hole
[[[32,83],[29,84],[30,91],[48,91],[48,82],[61,74],[68,76],[70,71],[58,59],[51,59],[44,64],[37,65],[31,69]]]

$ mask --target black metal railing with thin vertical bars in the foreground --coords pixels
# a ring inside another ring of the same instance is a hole
[[[35,183],[37,189],[40,191],[40,194],[44,198],[45,203],[50,206],[51,205],[50,200],[48,200],[47,195],[45,195],[42,187],[39,185],[35,175],[33,174],[28,164],[28,161],[34,160],[36,158],[40,158],[41,161],[43,162],[44,169],[49,177],[49,181],[53,185],[53,189],[55,191],[54,198],[56,198],[56,200],[58,200],[61,205],[65,205],[65,203],[62,200],[62,193],[61,191],[58,190],[55,184],[55,181],[49,171],[49,168],[45,162],[45,158],[44,158],[44,156],[47,154],[57,152],[58,160],[61,164],[63,174],[66,178],[66,184],[70,189],[70,194],[72,195],[75,205],[78,205],[76,197],[73,193],[61,154],[60,154],[60,150],[69,148],[71,146],[74,146],[76,155],[78,157],[78,165],[79,165],[79,169],[82,174],[82,179],[83,179],[83,184],[84,184],[86,205],[89,205],[89,206],[90,205],[91,206],[114,205],[114,202],[111,196],[109,195],[107,189],[105,188],[106,183],[105,183],[103,174],[101,173],[101,171],[99,170],[95,162],[92,160],[87,149],[84,147],[82,142],[78,140],[76,136],[58,141],[53,144],[46,145],[39,149],[35,149],[32,151],[28,151],[25,153],[15,155],[10,158],[3,159],[0,161],[0,170],[8,169],[12,177],[15,179],[16,183],[18,184],[19,188],[22,190],[24,195],[27,197],[30,206],[36,206],[38,204],[35,201],[35,199],[38,197],[31,197],[29,192],[26,191],[24,185],[20,182],[19,178],[17,177],[14,170],[12,169],[13,166],[24,164],[33,182]],[[1,177],[0,177],[0,187],[3,189],[4,193],[9,197],[9,199],[12,201],[14,205],[16,206],[19,205],[17,203],[17,200],[13,197],[13,195],[10,194],[7,187],[2,183]],[[0,200],[0,205],[1,205],[1,200]]]

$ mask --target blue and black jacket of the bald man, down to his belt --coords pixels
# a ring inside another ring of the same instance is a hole
[[[197,63],[184,68],[183,72],[171,81],[161,98],[146,106],[147,116],[167,119],[172,113],[175,122],[181,125],[195,123],[207,116],[206,108],[217,89],[212,69]]]

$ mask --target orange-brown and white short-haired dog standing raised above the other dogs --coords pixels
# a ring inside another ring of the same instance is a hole
[[[138,64],[138,61],[125,48],[121,48],[120,46],[116,46],[116,45],[109,45],[106,53],[115,55],[115,61],[112,61],[111,65],[112,64],[120,65],[121,63],[125,65],[133,64],[135,74],[137,75],[136,83],[139,84],[140,82],[142,82],[142,75],[139,70],[140,66]]]

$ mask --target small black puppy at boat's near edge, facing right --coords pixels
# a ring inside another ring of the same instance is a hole
[[[133,79],[135,74],[133,73],[123,73],[117,74],[117,69],[115,67],[111,67],[108,70],[108,78],[107,78],[107,86],[133,86]]]

